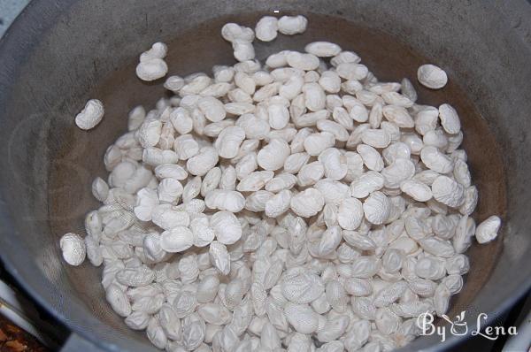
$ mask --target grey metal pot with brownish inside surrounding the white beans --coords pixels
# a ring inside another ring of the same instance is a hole
[[[526,1],[34,0],[0,42],[0,256],[22,287],[72,329],[66,348],[154,350],[110,310],[98,284],[101,269],[69,267],[58,249],[63,233],[83,233],[84,214],[96,206],[91,180],[105,175],[104,151],[126,131],[127,111],[164,94],[160,81],[136,79],[139,53],[152,42],[169,43],[170,73],[231,64],[222,24],[251,26],[273,10],[307,15],[309,29],[257,44],[259,58],[327,39],[358,52],[381,80],[406,76],[416,83],[417,67],[427,62],[449,73],[440,91],[416,84],[419,102],[457,108],[481,195],[474,218],[504,219],[496,241],[469,250],[471,271],[450,317],[466,310],[473,326],[480,312],[492,321],[531,286]],[[73,117],[92,97],[106,113],[87,133]],[[404,349],[440,350],[462,339],[424,336]]]

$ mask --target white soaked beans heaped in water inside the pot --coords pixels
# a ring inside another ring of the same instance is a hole
[[[129,113],[106,151],[103,203],[87,235],[60,241],[68,264],[104,264],[106,298],[167,351],[380,351],[444,314],[469,270],[478,201],[458,112],[416,103],[410,80],[379,82],[353,51],[312,42],[255,59],[252,42],[301,34],[303,16],[221,29],[239,62],[171,76]],[[158,42],[141,80],[168,71]],[[419,82],[447,75],[423,65]],[[104,106],[76,117],[96,126]]]

